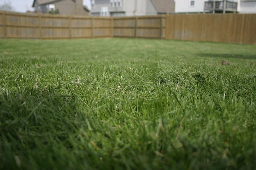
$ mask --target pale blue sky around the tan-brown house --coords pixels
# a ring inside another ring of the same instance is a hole
[[[15,12],[26,12],[27,10],[33,11],[32,4],[34,0],[0,0],[0,5],[4,2],[10,1],[14,7]],[[90,0],[83,0],[84,5],[90,8]]]

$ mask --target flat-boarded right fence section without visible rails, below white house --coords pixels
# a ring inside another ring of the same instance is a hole
[[[166,39],[256,44],[256,14],[178,14],[166,17]]]

